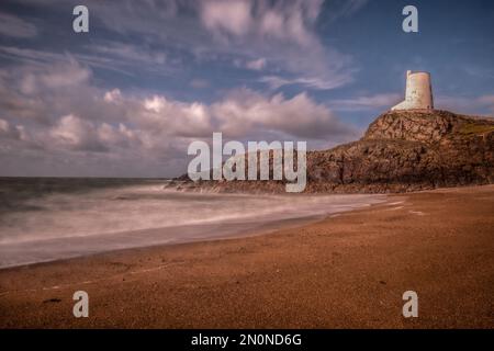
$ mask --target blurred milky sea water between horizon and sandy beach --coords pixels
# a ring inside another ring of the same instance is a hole
[[[370,206],[384,195],[165,190],[166,180],[0,179],[0,268],[211,240]]]

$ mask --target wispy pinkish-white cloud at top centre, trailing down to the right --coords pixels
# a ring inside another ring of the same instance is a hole
[[[350,56],[324,46],[316,34],[322,3],[321,0],[204,1],[200,18],[216,39],[213,47],[220,53],[246,57],[247,68],[260,70],[269,61],[287,83],[334,89],[350,82],[356,69]],[[261,58],[252,60],[252,57]],[[234,64],[244,67],[238,61],[242,60],[237,58]]]

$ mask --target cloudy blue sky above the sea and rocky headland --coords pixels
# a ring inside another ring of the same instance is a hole
[[[176,177],[214,132],[330,148],[408,69],[437,109],[492,116],[493,34],[489,0],[2,0],[0,176]]]

